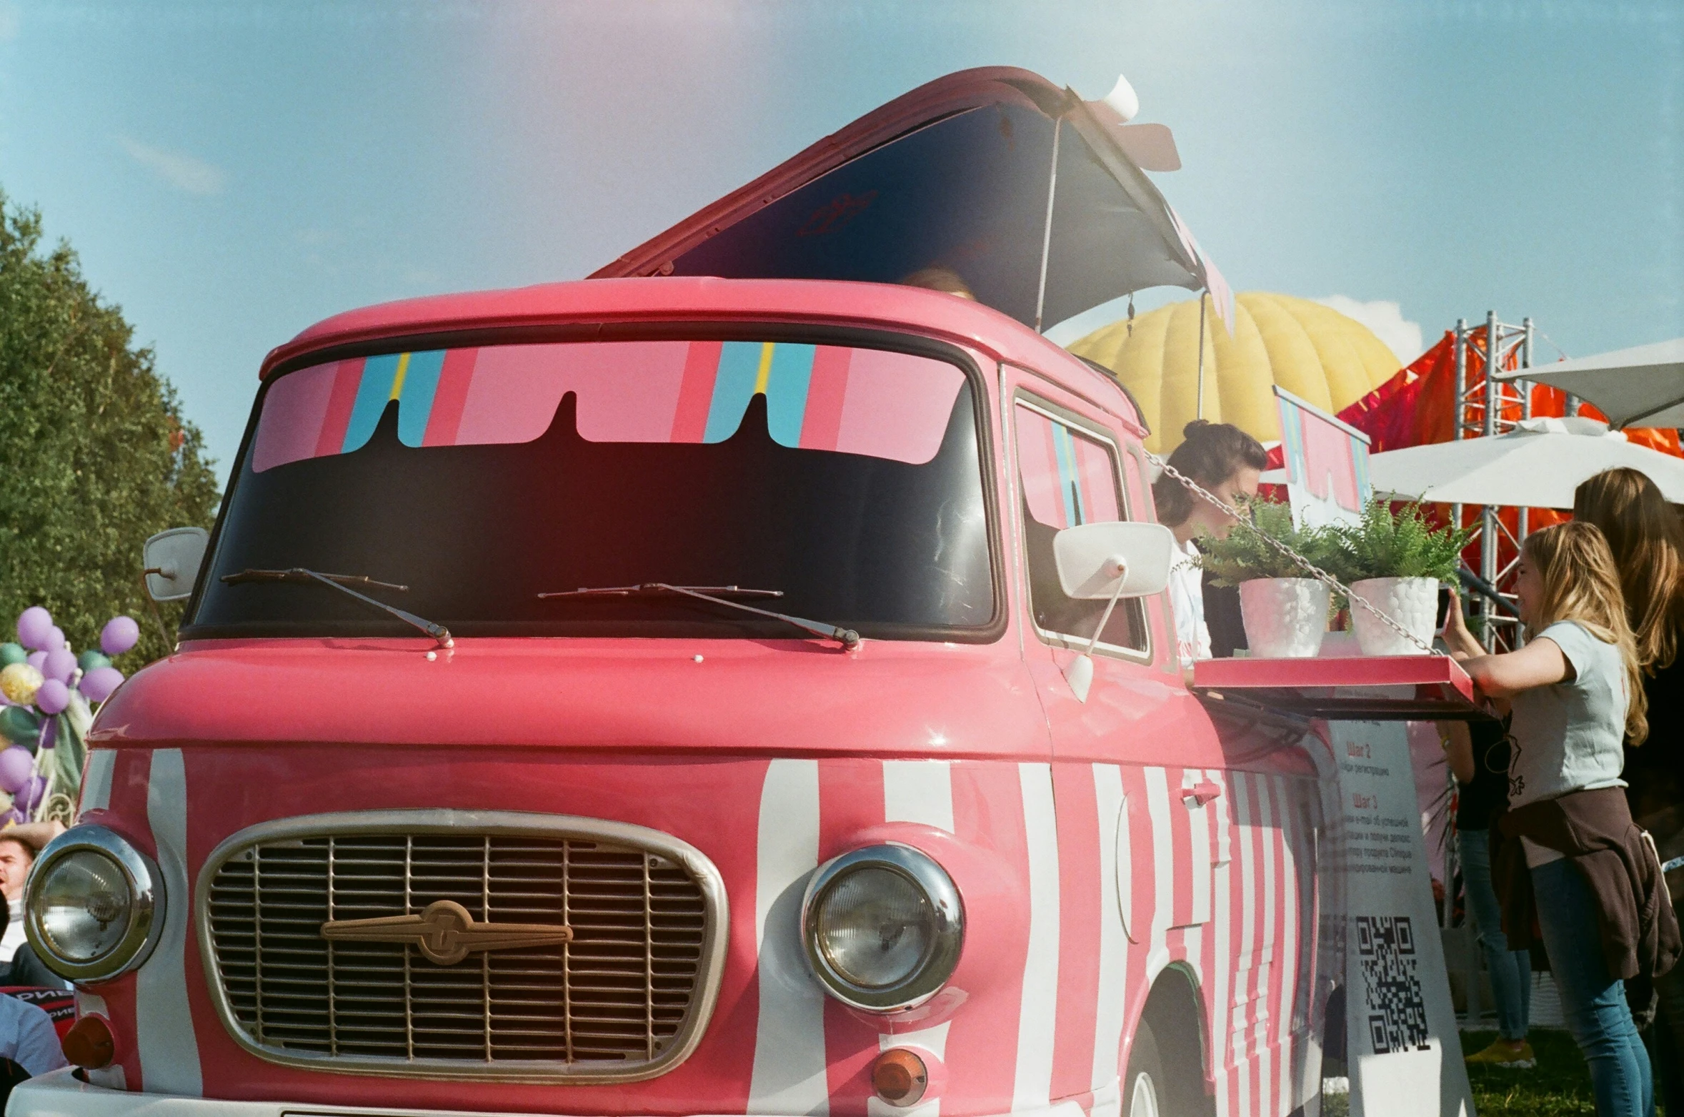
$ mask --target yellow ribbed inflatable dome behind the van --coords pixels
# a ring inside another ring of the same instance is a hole
[[[1133,393],[1152,436],[1147,448],[1169,453],[1180,430],[1199,418],[1199,303],[1159,307],[1113,322],[1069,345],[1098,361]],[[1233,423],[1260,441],[1280,440],[1273,384],[1327,411],[1340,411],[1403,367],[1383,340],[1346,315],[1292,295],[1234,297],[1234,332],[1214,308],[1204,320],[1204,418]]]

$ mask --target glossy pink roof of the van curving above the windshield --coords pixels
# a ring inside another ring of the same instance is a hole
[[[935,337],[1031,367],[1145,433],[1138,409],[1111,377],[1009,315],[955,295],[889,283],[665,276],[406,298],[317,322],[269,350],[259,376],[338,345],[598,322],[805,322]]]

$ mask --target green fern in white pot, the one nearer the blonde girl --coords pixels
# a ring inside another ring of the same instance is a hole
[[[1438,620],[1438,583],[1455,581],[1462,548],[1472,529],[1436,527],[1420,504],[1393,512],[1386,500],[1374,500],[1357,524],[1332,531],[1334,571],[1362,598],[1396,620],[1415,637],[1351,601],[1351,627],[1364,655],[1425,655],[1433,644]],[[1418,640],[1418,642],[1416,642]]]

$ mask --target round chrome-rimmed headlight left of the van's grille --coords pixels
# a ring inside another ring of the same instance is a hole
[[[163,927],[158,869],[103,826],[52,839],[29,876],[24,932],[52,972],[106,981],[147,960]]]

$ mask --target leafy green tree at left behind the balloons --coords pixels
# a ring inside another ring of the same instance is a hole
[[[42,248],[40,212],[0,192],[0,639],[45,605],[71,645],[115,613],[140,622],[125,671],[168,647],[140,585],[140,548],[216,516],[204,440],[180,418],[150,349],[83,278],[71,246]],[[179,605],[162,607],[173,633]]]

